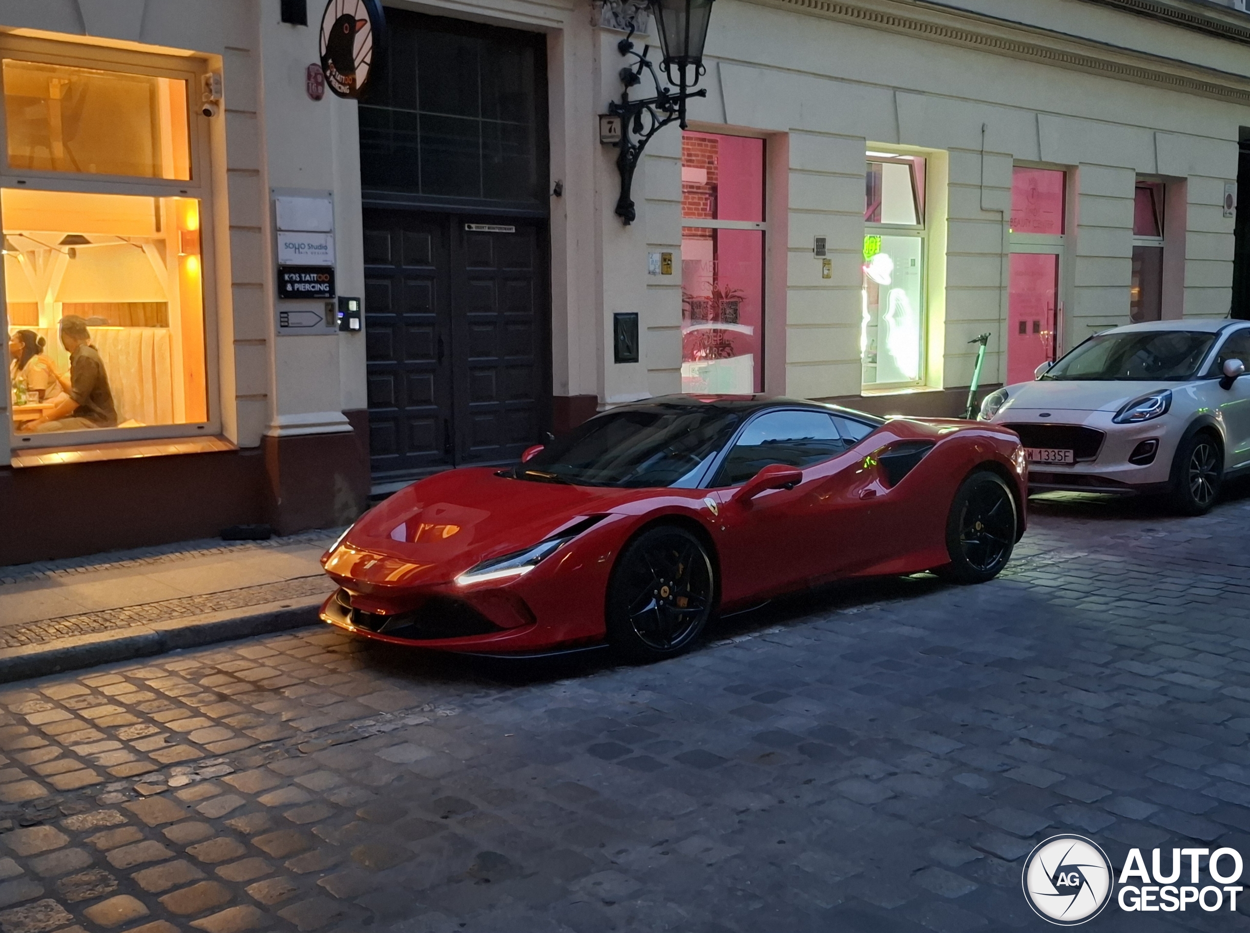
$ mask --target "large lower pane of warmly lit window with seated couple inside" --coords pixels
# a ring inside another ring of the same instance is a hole
[[[208,419],[198,200],[5,189],[0,218],[19,434]]]

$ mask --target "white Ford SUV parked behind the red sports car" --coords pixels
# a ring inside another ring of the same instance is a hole
[[[1250,321],[1130,324],[991,393],[980,416],[1020,435],[1032,492],[1164,493],[1198,515],[1250,469],[1246,361]]]

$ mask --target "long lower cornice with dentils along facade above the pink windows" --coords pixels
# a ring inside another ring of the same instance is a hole
[[[1146,4],[1151,0],[1094,0],[1106,4]],[[748,0],[762,6],[801,11],[886,33],[910,35],[946,45],[976,49],[1066,70],[1085,71],[1134,84],[1196,94],[1232,104],[1250,105],[1250,78],[1159,59],[1142,53],[1080,40],[1035,26],[1010,24],[950,6],[878,0],[860,6],[840,0]],[[1155,4],[1161,5],[1161,4]],[[1140,64],[1150,61],[1155,66]]]

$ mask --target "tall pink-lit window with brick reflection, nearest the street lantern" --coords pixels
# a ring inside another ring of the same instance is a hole
[[[764,140],[681,140],[681,390],[764,385]]]

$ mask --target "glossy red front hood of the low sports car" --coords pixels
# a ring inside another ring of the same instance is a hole
[[[534,483],[498,473],[465,468],[414,483],[362,515],[322,565],[340,582],[385,588],[445,582],[642,492]]]

